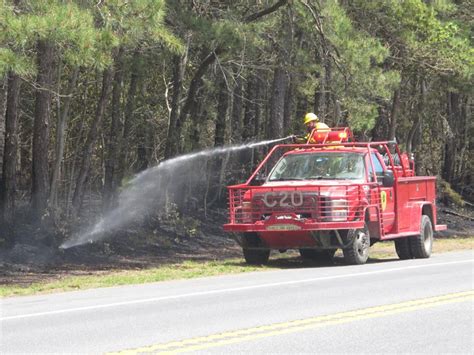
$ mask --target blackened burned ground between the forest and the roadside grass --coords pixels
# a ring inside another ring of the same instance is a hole
[[[24,225],[18,242],[0,249],[0,285],[29,285],[66,276],[137,270],[185,260],[240,257],[237,243],[222,230],[225,211],[197,214],[179,222],[130,226],[96,243],[62,250],[58,235]],[[454,213],[454,214],[453,214]],[[468,217],[468,218],[466,218]],[[474,212],[439,208],[438,223],[448,230],[438,238],[474,237]],[[43,234],[41,234],[43,233]]]

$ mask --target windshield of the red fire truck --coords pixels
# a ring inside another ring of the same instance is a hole
[[[267,181],[361,180],[365,178],[364,155],[358,153],[308,153],[284,156]]]

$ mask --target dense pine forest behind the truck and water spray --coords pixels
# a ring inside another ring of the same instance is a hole
[[[1,244],[107,211],[165,159],[302,133],[306,112],[396,138],[418,174],[473,201],[473,14],[471,0],[4,0]],[[194,208],[224,205],[254,153],[203,166]]]

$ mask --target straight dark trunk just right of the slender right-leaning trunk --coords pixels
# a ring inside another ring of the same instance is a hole
[[[122,138],[122,85],[123,85],[123,48],[119,49],[115,57],[114,84],[112,89],[112,117],[110,125],[110,136],[107,145],[107,158],[105,159],[103,207],[109,209],[115,201],[115,195],[120,181],[117,181],[117,170],[119,168],[119,157]]]

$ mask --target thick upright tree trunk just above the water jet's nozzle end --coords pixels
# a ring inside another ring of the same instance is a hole
[[[270,102],[270,132],[268,138],[283,137],[285,111],[286,73],[278,66],[273,74],[272,98]]]

